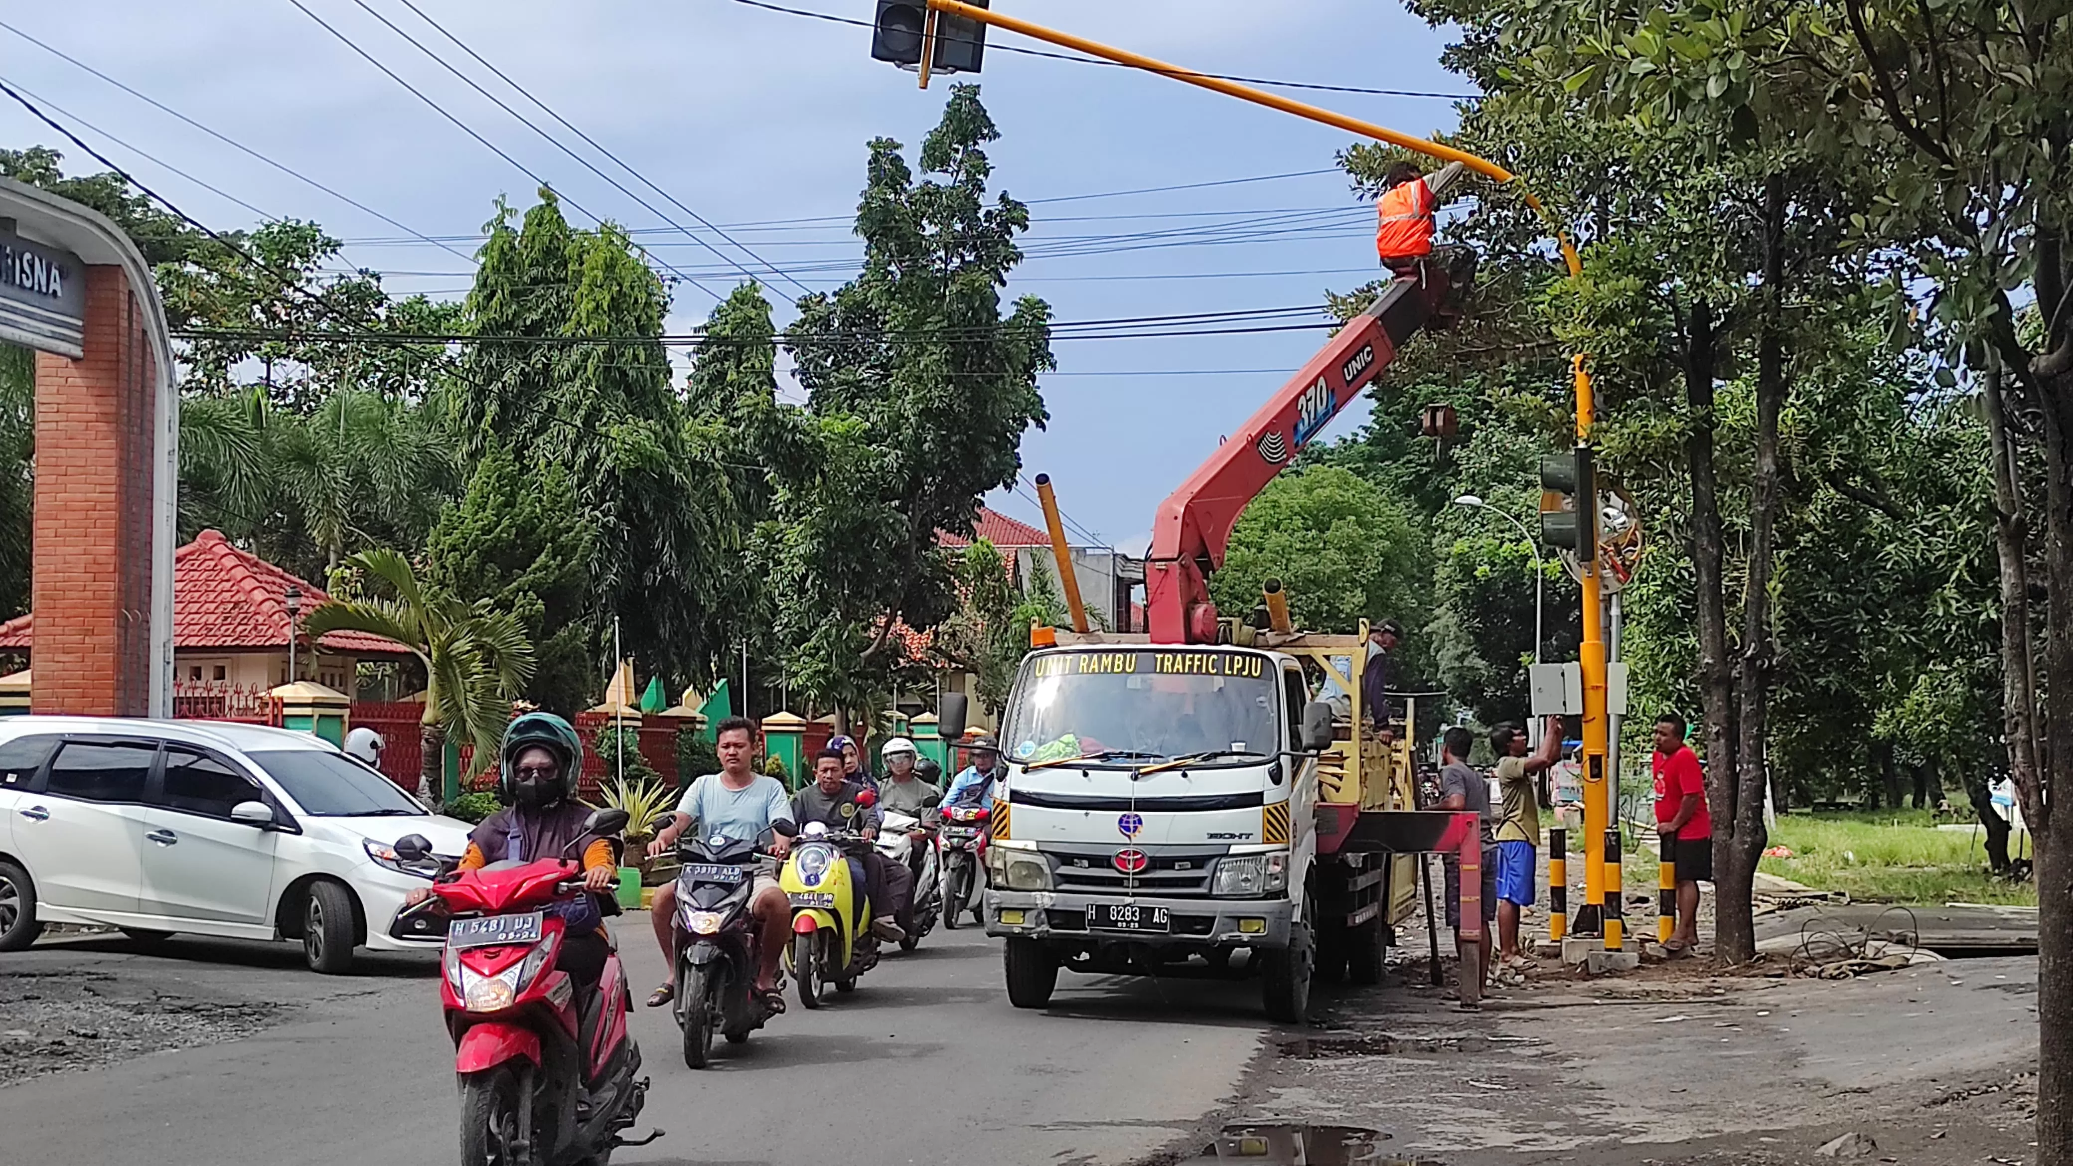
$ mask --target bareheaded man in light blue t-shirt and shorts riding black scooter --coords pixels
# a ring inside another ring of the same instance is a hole
[[[777,834],[773,826],[779,822],[790,824],[792,797],[786,793],[784,782],[757,774],[750,768],[755,741],[757,726],[746,716],[730,716],[719,722],[713,741],[713,751],[719,753],[719,772],[690,782],[682,801],[676,803],[670,826],[649,842],[649,857],[668,855],[676,849],[678,836],[697,826],[697,836],[701,838],[726,836],[738,842],[752,842],[769,832],[771,853],[784,859],[786,851],[792,849],[792,836]],[[763,944],[757,952],[761,956],[757,967],[757,996],[763,998],[767,1010],[782,1012],[784,992],[777,990],[777,961],[792,938],[792,900],[777,888],[775,878],[757,871],[748,911],[763,925]],[[649,923],[655,927],[655,942],[661,944],[663,965],[670,969],[670,977],[663,979],[661,988],[649,994],[649,1008],[661,1008],[676,998],[674,882],[655,888],[655,907],[649,911]]]

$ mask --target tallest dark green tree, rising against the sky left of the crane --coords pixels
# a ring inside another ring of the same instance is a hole
[[[1028,207],[987,201],[999,137],[972,85],[952,87],[914,178],[900,143],[871,143],[856,212],[864,270],[798,301],[790,330],[806,409],[769,442],[773,519],[759,535],[792,687],[837,716],[873,707],[906,664],[893,627],[956,610],[937,531],[970,531],[1012,485],[1045,421],[1051,309],[1001,313]]]

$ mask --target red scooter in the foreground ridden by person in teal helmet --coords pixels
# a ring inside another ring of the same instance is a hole
[[[564,923],[547,913],[589,894],[574,855],[624,826],[624,809],[599,809],[560,857],[446,871],[410,909],[446,923],[439,1002],[460,1075],[462,1166],[605,1166],[614,1149],[661,1137],[620,1137],[649,1083],[634,1079],[641,1048],[626,1031],[632,996],[618,950],[595,990],[576,988],[556,967]],[[429,853],[417,834],[396,842],[404,861]]]

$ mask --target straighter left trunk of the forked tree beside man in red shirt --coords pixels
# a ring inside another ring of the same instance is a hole
[[[1735,786],[1735,737],[1733,737],[1733,683],[1727,660],[1727,593],[1723,591],[1721,560],[1725,542],[1721,537],[1721,488],[1712,467],[1712,436],[1719,427],[1714,415],[1714,365],[1719,361],[1719,334],[1714,332],[1712,305],[1696,301],[1685,313],[1685,407],[1692,411],[1692,436],[1685,438],[1685,454],[1692,461],[1692,568],[1698,604],[1698,691],[1700,722],[1706,741],[1706,801],[1725,807],[1725,797]],[[1721,830],[1725,813],[1712,817],[1712,863],[1725,869],[1725,840]]]

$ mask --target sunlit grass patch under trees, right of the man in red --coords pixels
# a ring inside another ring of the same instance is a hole
[[[2013,903],[2036,907],[2027,882],[1986,871],[1984,832],[1936,830],[1928,811],[1787,813],[1770,836],[1791,859],[1758,869],[1862,903]],[[2011,849],[2021,838],[2011,838]]]

